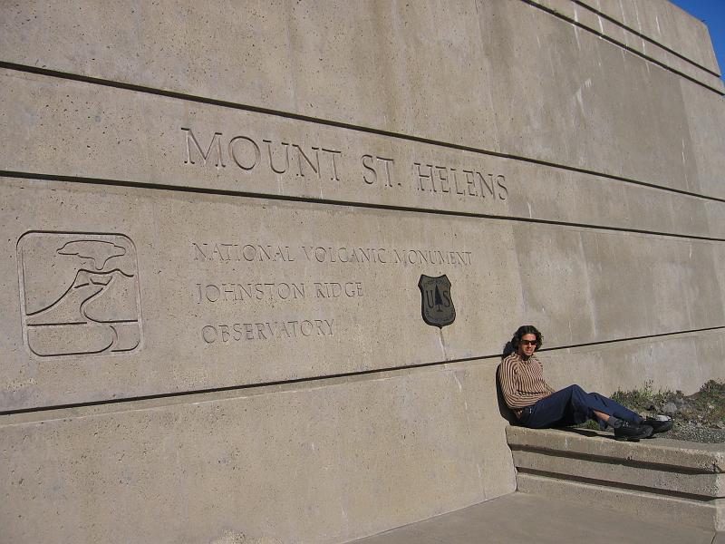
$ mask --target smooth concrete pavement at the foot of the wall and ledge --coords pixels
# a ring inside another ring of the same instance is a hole
[[[651,523],[627,513],[596,510],[583,501],[527,493],[444,514],[356,544],[712,544],[715,533],[670,523]],[[721,539],[719,533],[715,542]]]

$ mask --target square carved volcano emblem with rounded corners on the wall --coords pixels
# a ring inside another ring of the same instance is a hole
[[[118,234],[28,232],[17,244],[24,342],[42,357],[140,347],[138,265]]]

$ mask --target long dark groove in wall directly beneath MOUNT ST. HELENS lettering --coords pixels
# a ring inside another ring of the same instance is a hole
[[[63,181],[70,183],[82,183],[85,185],[106,185],[112,187],[132,187],[136,189],[153,189],[160,191],[170,192],[186,192],[186,193],[198,193],[198,194],[210,194],[220,196],[230,196],[247,199],[267,199],[267,200],[283,200],[289,202],[307,202],[310,204],[322,204],[326,206],[343,206],[345,208],[362,208],[362,209],[384,209],[386,211],[404,211],[412,213],[424,213],[430,215],[441,215],[441,216],[456,216],[464,218],[478,218],[478,219],[493,219],[498,221],[511,221],[517,223],[533,223],[539,225],[559,225],[562,227],[575,227],[575,228],[591,228],[594,230],[604,230],[609,232],[624,232],[631,234],[644,234],[650,236],[657,236],[663,238],[679,238],[679,239],[693,239],[703,240],[710,242],[725,242],[725,238],[698,236],[691,234],[679,234],[674,232],[661,232],[656,230],[644,230],[641,228],[625,228],[625,227],[610,227],[607,225],[596,225],[590,223],[575,223],[568,221],[555,221],[551,219],[534,219],[534,218],[522,218],[517,216],[500,216],[492,214],[474,213],[468,211],[455,211],[448,209],[428,209],[428,208],[414,208],[406,206],[393,206],[388,204],[376,204],[370,202],[355,202],[349,200],[334,200],[334,199],[314,199],[306,197],[294,197],[289,195],[275,195],[265,193],[255,193],[247,191],[235,191],[228,189],[205,189],[198,187],[188,186],[176,186],[176,185],[160,185],[156,183],[141,183],[138,181],[122,181],[122,180],[106,180],[98,178],[75,178],[72,176],[53,176],[51,174],[41,174],[38,172],[17,172],[10,170],[0,170],[0,178],[16,178],[24,180],[43,180],[43,181]]]

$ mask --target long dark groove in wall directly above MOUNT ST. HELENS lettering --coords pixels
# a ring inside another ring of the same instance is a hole
[[[527,0],[522,0],[522,1],[527,2]],[[322,118],[318,118],[318,117],[312,117],[309,115],[302,115],[299,113],[282,112],[282,111],[277,111],[277,110],[271,110],[268,108],[262,108],[259,106],[252,106],[252,105],[241,104],[241,103],[237,103],[237,102],[228,102],[228,101],[218,100],[218,99],[214,99],[214,98],[202,97],[202,96],[184,93],[184,92],[156,89],[153,87],[148,87],[148,86],[138,85],[138,84],[133,84],[133,83],[114,82],[114,81],[105,80],[102,78],[84,76],[84,75],[79,75],[79,74],[75,74],[75,73],[59,72],[59,71],[50,70],[47,68],[37,68],[34,66],[27,66],[24,64],[7,63],[5,61],[0,61],[0,68],[5,68],[6,70],[14,70],[17,72],[24,72],[24,73],[36,73],[38,75],[44,75],[47,77],[65,79],[65,80],[70,80],[70,81],[75,81],[75,82],[80,82],[80,83],[91,83],[91,84],[96,84],[96,85],[103,85],[106,87],[123,89],[126,91],[143,92],[146,94],[164,96],[167,98],[174,98],[177,100],[182,100],[182,101],[187,101],[187,102],[198,102],[198,103],[204,103],[204,104],[208,104],[208,105],[215,105],[215,106],[219,106],[219,107],[223,107],[223,108],[240,110],[240,111],[244,111],[244,112],[263,113],[266,115],[273,115],[275,117],[279,117],[279,118],[283,118],[283,119],[293,119],[295,121],[306,121],[306,122],[311,122],[311,123],[315,123],[315,124],[319,124],[319,125],[323,125],[323,126],[336,127],[336,128],[340,128],[340,129],[344,129],[344,130],[348,130],[348,131],[358,131],[358,132],[364,132],[364,133],[368,133],[368,134],[375,134],[377,136],[385,136],[388,138],[394,138],[394,139],[402,140],[402,141],[415,141],[415,142],[439,146],[441,148],[446,148],[446,149],[451,149],[451,150],[469,151],[471,153],[477,153],[479,155],[488,155],[490,157],[499,157],[502,159],[519,160],[521,162],[527,162],[529,164],[537,164],[537,165],[541,165],[541,166],[546,166],[546,167],[553,168],[556,170],[565,170],[565,171],[571,171],[571,172],[577,172],[577,173],[581,173],[581,174],[591,175],[591,176],[595,176],[598,178],[603,178],[605,180],[623,181],[625,183],[632,183],[633,185],[640,185],[643,187],[649,187],[651,189],[659,189],[659,190],[677,193],[677,194],[681,194],[681,195],[687,195],[687,196],[695,197],[695,198],[699,198],[699,199],[713,200],[713,201],[717,201],[717,202],[725,202],[725,198],[719,198],[719,197],[713,197],[710,195],[699,194],[699,193],[695,193],[695,192],[684,190],[684,189],[674,189],[674,188],[666,187],[663,185],[657,185],[656,183],[652,183],[652,182],[648,182],[648,181],[634,180],[633,178],[626,178],[624,176],[616,176],[614,174],[608,174],[605,172],[587,170],[584,168],[578,168],[578,167],[570,166],[570,165],[566,165],[566,164],[559,164],[559,163],[550,162],[547,160],[534,159],[531,157],[523,157],[520,155],[511,154],[511,153],[490,151],[490,150],[466,146],[466,145],[462,145],[462,144],[458,144],[458,143],[451,143],[448,141],[432,140],[430,138],[423,138],[420,136],[415,136],[412,134],[405,134],[402,132],[384,131],[382,129],[375,129],[372,127],[355,125],[353,123],[347,123],[347,122],[343,122],[343,121],[331,121],[331,120],[322,119]]]

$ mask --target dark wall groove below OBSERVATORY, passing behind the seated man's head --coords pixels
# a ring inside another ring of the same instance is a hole
[[[609,344],[631,342],[633,340],[646,340],[646,339],[662,338],[662,337],[666,337],[666,336],[688,335],[688,334],[696,334],[696,333],[717,331],[717,330],[723,330],[723,329],[725,329],[725,325],[713,326],[713,327],[701,328],[701,329],[692,329],[692,330],[688,330],[688,331],[662,333],[659,335],[633,336],[633,337],[629,337],[629,338],[617,338],[617,339],[612,339],[612,340],[602,340],[602,341],[598,341],[598,342],[589,342],[589,343],[585,343],[585,344],[558,345],[558,346],[554,346],[554,347],[540,349],[539,351],[554,352],[554,351],[565,350],[565,349],[573,349],[573,348],[577,348],[577,347],[609,345]],[[294,384],[324,384],[324,382],[329,382],[331,380],[336,380],[336,379],[341,379],[341,378],[353,378],[353,377],[357,377],[357,376],[369,376],[369,375],[374,375],[374,374],[393,374],[393,373],[400,373],[401,371],[404,372],[407,370],[414,370],[414,369],[418,369],[418,368],[443,366],[446,364],[461,364],[461,363],[469,363],[469,362],[474,362],[474,361],[485,361],[488,359],[500,360],[502,355],[503,354],[477,355],[477,356],[473,356],[473,357],[465,357],[465,358],[460,358],[460,359],[450,359],[448,361],[434,361],[431,363],[407,364],[407,365],[402,365],[402,366],[376,368],[376,369],[372,369],[372,370],[365,370],[365,371],[359,371],[359,372],[350,372],[350,373],[342,373],[342,374],[327,374],[324,376],[312,376],[312,377],[307,377],[307,378],[298,378],[295,380],[283,380],[283,381],[279,381],[279,382],[264,382],[264,383],[258,383],[258,384],[229,385],[227,387],[198,389],[198,390],[194,390],[194,391],[158,393],[158,394],[150,394],[150,395],[142,395],[142,396],[134,396],[134,397],[114,398],[114,399],[107,399],[107,400],[102,400],[102,401],[93,401],[93,402],[89,402],[89,403],[54,404],[52,406],[38,406],[38,407],[34,407],[34,408],[23,408],[20,410],[0,411],[0,416],[11,416],[14,414],[21,414],[21,413],[42,414],[42,413],[53,411],[53,410],[66,410],[66,409],[73,409],[73,408],[82,408],[82,407],[87,407],[87,406],[107,406],[107,405],[113,405],[113,404],[133,403],[133,402],[150,401],[150,400],[157,400],[157,399],[182,399],[184,397],[189,397],[189,396],[198,395],[198,394],[213,394],[213,393],[223,393],[223,392],[233,392],[233,391],[238,391],[241,393],[244,391],[258,389],[261,387],[271,387],[271,386],[294,385]],[[1,424],[3,424],[2,420],[0,420],[0,425]]]

